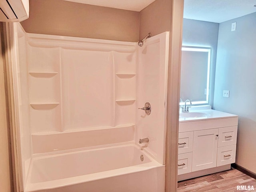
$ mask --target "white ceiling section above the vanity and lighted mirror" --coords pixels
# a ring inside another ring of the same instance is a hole
[[[256,12],[256,0],[184,0],[184,18],[221,23]]]

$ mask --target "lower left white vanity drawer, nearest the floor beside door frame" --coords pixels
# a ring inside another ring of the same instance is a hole
[[[192,152],[178,155],[178,175],[192,171]]]

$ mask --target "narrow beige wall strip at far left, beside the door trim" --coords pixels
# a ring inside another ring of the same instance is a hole
[[[2,27],[2,26],[0,26]],[[1,37],[1,32],[0,32]],[[0,38],[1,40],[1,38]],[[4,67],[2,42],[0,42],[0,191],[10,192],[10,166],[9,166],[9,148],[8,132],[6,118],[6,100],[4,89]]]

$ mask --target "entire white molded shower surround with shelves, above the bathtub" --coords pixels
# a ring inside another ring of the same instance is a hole
[[[116,144],[145,146],[139,138],[149,138],[144,150],[159,167],[164,164],[168,32],[138,48],[137,42],[27,34],[20,25],[14,31],[24,186],[31,158]],[[138,110],[146,102],[152,106],[149,116]]]

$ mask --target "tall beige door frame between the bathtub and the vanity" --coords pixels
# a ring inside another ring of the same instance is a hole
[[[184,0],[172,0],[167,93],[165,192],[177,192],[178,188],[177,164],[183,8]]]

